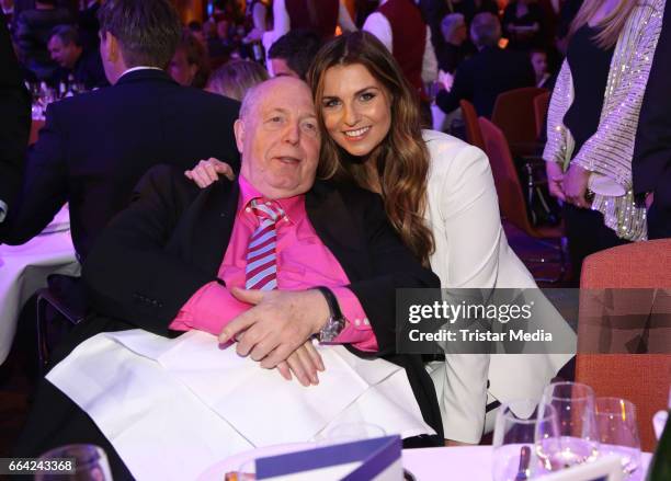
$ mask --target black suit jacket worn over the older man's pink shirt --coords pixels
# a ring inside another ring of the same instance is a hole
[[[181,172],[152,169],[137,198],[105,229],[83,265],[94,310],[161,335],[180,308],[217,277],[237,211],[238,183],[219,180],[200,191]],[[395,290],[440,287],[389,225],[375,194],[318,182],[306,211],[338,259],[362,304],[379,355],[406,367],[424,420],[440,434],[433,383],[418,355],[396,354]]]

